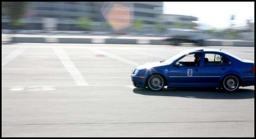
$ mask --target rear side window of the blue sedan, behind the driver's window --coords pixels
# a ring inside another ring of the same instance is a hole
[[[215,53],[205,53],[204,66],[227,66],[231,61]]]

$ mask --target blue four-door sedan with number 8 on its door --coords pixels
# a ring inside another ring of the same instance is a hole
[[[162,90],[176,87],[214,87],[235,91],[254,86],[254,61],[212,49],[191,49],[132,70],[135,87]]]

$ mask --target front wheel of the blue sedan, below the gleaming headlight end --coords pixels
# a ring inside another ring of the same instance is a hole
[[[151,90],[159,91],[163,89],[165,81],[160,75],[152,75],[148,79],[147,84],[148,84],[148,88],[150,88]]]

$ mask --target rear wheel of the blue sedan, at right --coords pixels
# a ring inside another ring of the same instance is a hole
[[[236,91],[239,88],[239,80],[236,76],[226,76],[223,80],[223,89],[226,91]]]

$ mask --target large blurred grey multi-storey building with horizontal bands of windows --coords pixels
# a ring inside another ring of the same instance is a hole
[[[85,30],[76,26],[77,18],[85,17],[93,21],[91,31],[111,31],[111,28],[104,26],[107,20],[102,8],[106,3],[130,4],[132,20],[141,20],[145,25],[153,25],[158,14],[162,14],[163,7],[163,2],[29,2],[22,20],[25,25],[20,29],[44,29],[44,20],[52,18],[56,21],[56,30]],[[10,28],[9,21],[2,5],[2,29]],[[129,27],[123,29],[129,30]]]

